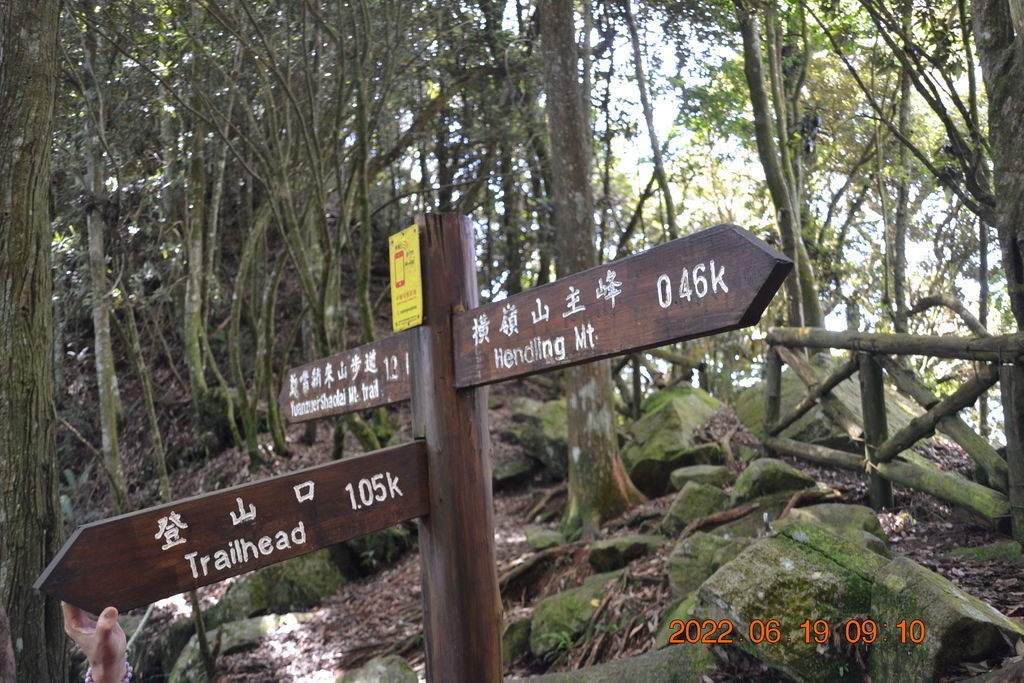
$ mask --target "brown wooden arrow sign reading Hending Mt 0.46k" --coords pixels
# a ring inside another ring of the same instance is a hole
[[[736,225],[716,225],[453,322],[457,387],[543,373],[749,327],[793,269]]]

